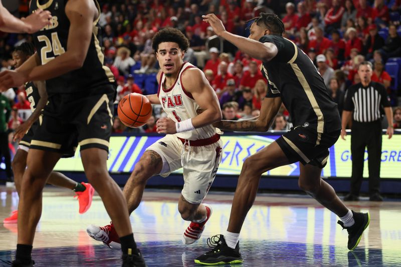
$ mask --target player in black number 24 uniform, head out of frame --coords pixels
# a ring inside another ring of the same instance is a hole
[[[123,266],[145,266],[136,248],[121,189],[107,170],[114,76],[103,66],[97,39],[100,7],[94,0],[34,0],[30,12],[50,11],[51,25],[34,34],[38,51],[16,71],[0,73],[0,90],[46,80],[49,102],[28,152],[21,186],[17,255],[13,266],[32,266],[32,243],[42,209],[42,190],[75,137],[85,174],[103,200],[123,252]]]

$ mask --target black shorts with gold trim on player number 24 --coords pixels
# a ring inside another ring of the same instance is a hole
[[[30,147],[67,154],[79,144],[81,150],[108,151],[114,99],[115,86],[111,84],[80,93],[50,95]]]

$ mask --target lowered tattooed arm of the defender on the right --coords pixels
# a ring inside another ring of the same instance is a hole
[[[260,115],[257,118],[241,121],[222,120],[213,125],[219,129],[235,132],[266,132],[273,123],[281,107],[281,98],[265,98],[262,102]]]

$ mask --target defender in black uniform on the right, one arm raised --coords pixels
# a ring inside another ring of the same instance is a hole
[[[287,107],[294,127],[269,146],[248,157],[241,170],[225,235],[212,238],[216,247],[197,257],[196,263],[239,263],[239,233],[252,207],[262,173],[299,161],[301,189],[340,217],[348,230],[348,249],[359,242],[369,224],[369,214],[349,210],[334,189],[321,179],[330,148],[341,129],[337,105],[327,93],[324,81],[312,61],[297,46],[282,37],[283,22],[273,14],[262,13],[250,22],[249,38],[228,33],[214,15],[203,16],[215,33],[241,51],[263,61],[262,73],[268,79],[268,93],[258,118],[221,121],[222,130],[265,132],[272,124],[281,103]]]

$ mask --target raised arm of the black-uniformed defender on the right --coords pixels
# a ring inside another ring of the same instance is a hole
[[[207,22],[212,26],[214,32],[218,36],[226,39],[252,58],[266,62],[273,59],[278,53],[276,45],[272,43],[261,43],[259,41],[227,32],[224,28],[223,22],[216,17],[215,14],[208,14],[202,17],[204,22]]]

